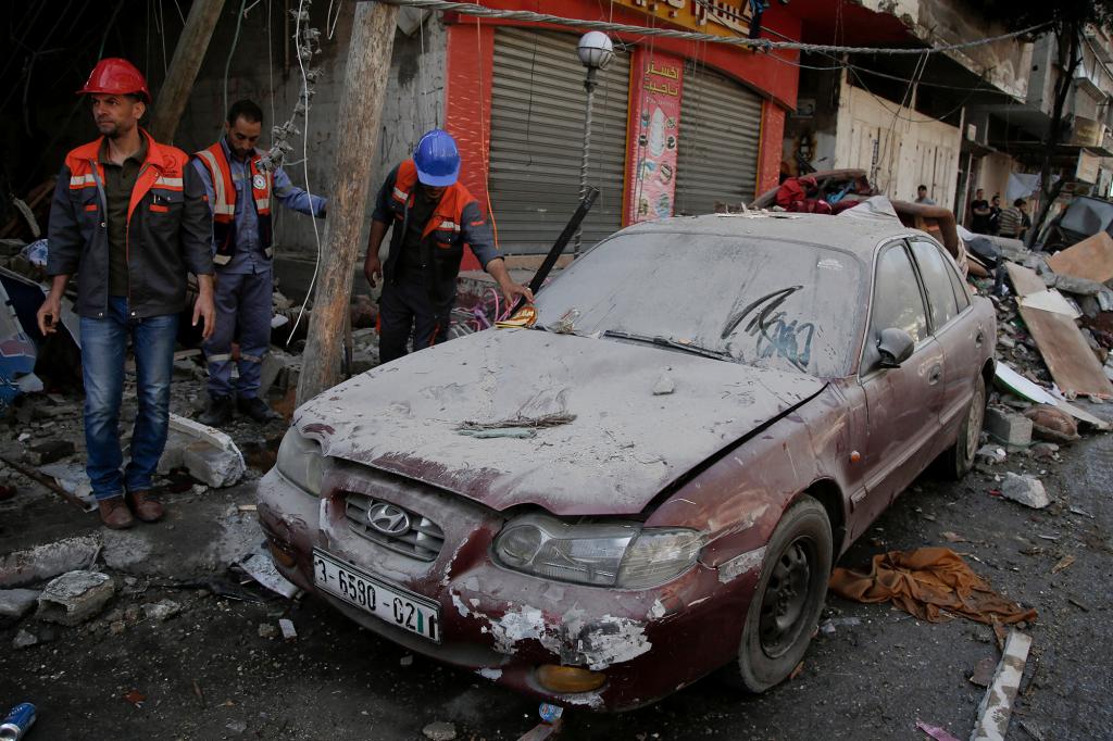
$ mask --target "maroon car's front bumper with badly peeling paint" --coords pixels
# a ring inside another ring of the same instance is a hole
[[[384,481],[386,482],[384,484]],[[348,525],[345,500],[384,494],[440,523],[444,546],[432,561],[395,553]],[[620,711],[649,704],[735,660],[760,559],[727,574],[697,563],[651,590],[624,591],[544,580],[491,556],[505,517],[413,482],[387,481],[352,465],[314,496],[273,470],[259,481],[258,513],[280,573],[370,631],[546,702]],[[404,500],[404,501],[400,501]],[[440,605],[441,642],[405,631],[317,590],[313,550]],[[543,686],[544,664],[605,674],[598,690],[561,694]]]

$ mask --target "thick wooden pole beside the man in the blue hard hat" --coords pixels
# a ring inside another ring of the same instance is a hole
[[[398,9],[382,2],[357,2],[344,97],[341,99],[321,274],[309,315],[305,360],[297,382],[303,404],[341,379],[341,345],[352,296],[352,275],[359,251],[371,166],[378,148],[383,99],[391,71]]]

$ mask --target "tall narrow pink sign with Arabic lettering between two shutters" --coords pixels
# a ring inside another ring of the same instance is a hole
[[[630,103],[636,119],[627,157],[627,224],[672,216],[684,61],[639,48]]]

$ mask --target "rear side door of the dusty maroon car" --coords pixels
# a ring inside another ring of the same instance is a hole
[[[954,261],[929,239],[913,238],[909,244],[927,294],[932,334],[942,346],[945,359],[939,412],[944,434],[939,435],[936,445],[936,453],[939,453],[951,444],[969,405],[986,330],[971,309],[969,294]]]

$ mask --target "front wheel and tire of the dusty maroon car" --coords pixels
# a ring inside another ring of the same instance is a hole
[[[810,496],[780,518],[766,545],[738,649],[732,683],[759,693],[785,681],[804,658],[831,572],[831,526]]]

